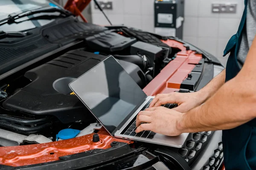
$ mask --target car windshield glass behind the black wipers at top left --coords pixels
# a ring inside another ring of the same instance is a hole
[[[49,7],[50,4],[53,4],[53,1],[50,0],[0,0],[0,20],[3,20],[8,17],[9,14],[16,13],[19,14],[21,12],[34,10],[38,8],[44,8]],[[56,3],[54,3],[57,5]],[[46,13],[44,13],[46,14]],[[59,14],[51,13],[51,15]],[[23,17],[20,19],[17,19],[16,21],[23,21],[28,20],[32,17],[37,17],[42,14],[34,14],[28,17]],[[22,23],[13,23],[11,25],[5,24],[0,26],[0,31],[24,31],[29,30],[33,28],[38,28],[44,25],[47,25],[48,23],[51,23],[54,20],[30,20],[30,21],[24,21]]]

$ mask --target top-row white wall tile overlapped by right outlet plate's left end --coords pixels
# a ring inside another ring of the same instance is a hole
[[[221,0],[219,0],[221,2]],[[219,3],[216,0],[199,0],[199,17],[218,18],[219,14],[212,13],[212,3]]]

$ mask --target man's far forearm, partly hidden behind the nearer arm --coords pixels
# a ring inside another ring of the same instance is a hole
[[[212,81],[210,81],[204,88],[198,91],[198,95],[202,99],[202,103],[209,99],[222,85],[225,83],[226,69],[218,74]]]

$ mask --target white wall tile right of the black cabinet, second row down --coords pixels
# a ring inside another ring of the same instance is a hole
[[[184,36],[197,36],[198,35],[198,17],[185,17],[183,23]]]

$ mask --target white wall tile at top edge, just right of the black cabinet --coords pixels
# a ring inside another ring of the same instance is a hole
[[[197,17],[198,16],[198,3],[199,0],[186,0],[184,15],[189,17]]]

